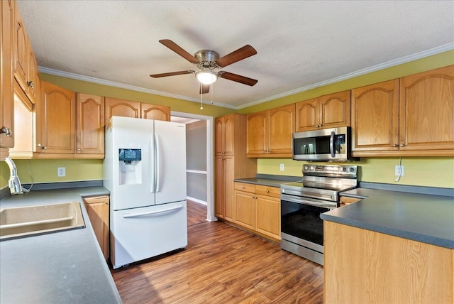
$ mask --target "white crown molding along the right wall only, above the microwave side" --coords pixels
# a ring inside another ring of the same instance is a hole
[[[401,57],[401,58],[397,58],[397,59],[394,59],[394,60],[389,60],[389,61],[387,61],[385,63],[380,63],[378,65],[372,65],[372,67],[366,67],[365,69],[358,70],[358,71],[355,71],[355,72],[351,72],[351,73],[348,73],[348,74],[345,74],[345,75],[341,75],[341,76],[338,76],[338,77],[334,77],[334,78],[331,78],[329,80],[323,80],[321,82],[316,82],[313,85],[306,85],[305,87],[300,87],[299,89],[292,89],[292,91],[287,91],[287,92],[284,92],[284,93],[281,93],[281,94],[277,94],[277,95],[272,96],[272,97],[267,97],[267,98],[264,98],[264,99],[256,100],[255,102],[250,102],[248,104],[243,104],[243,105],[239,106],[238,109],[244,109],[244,108],[247,108],[247,107],[252,107],[252,106],[255,106],[257,104],[262,104],[264,102],[270,102],[271,100],[274,100],[274,99],[287,97],[289,95],[293,95],[293,94],[309,91],[309,89],[315,89],[316,87],[323,87],[323,85],[331,85],[332,83],[335,83],[335,82],[340,82],[340,81],[343,81],[343,80],[348,80],[350,78],[354,78],[354,77],[358,77],[358,76],[361,76],[361,75],[365,75],[365,74],[370,73],[370,72],[376,72],[378,70],[383,70],[383,69],[385,69],[387,67],[394,67],[395,65],[402,65],[403,63],[409,63],[410,61],[414,61],[414,60],[425,58],[425,57],[428,57],[428,56],[431,56],[431,55],[436,55],[436,54],[439,54],[439,53],[447,52],[448,50],[454,50],[454,43],[448,43],[448,44],[445,44],[445,45],[438,46],[436,48],[431,48],[429,50],[423,50],[422,52],[414,53],[414,54],[407,55],[407,56],[404,56],[404,57]]]

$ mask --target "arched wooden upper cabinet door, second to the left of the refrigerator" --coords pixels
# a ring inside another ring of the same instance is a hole
[[[75,100],[74,92],[41,82],[41,115],[36,124],[41,126],[39,153],[74,154],[75,145]]]

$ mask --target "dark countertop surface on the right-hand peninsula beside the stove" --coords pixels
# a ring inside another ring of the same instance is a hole
[[[323,213],[323,220],[454,249],[454,197],[356,188],[359,202]]]

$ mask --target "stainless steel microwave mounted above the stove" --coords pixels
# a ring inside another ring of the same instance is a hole
[[[358,161],[351,156],[349,126],[294,133],[293,159],[296,161]]]

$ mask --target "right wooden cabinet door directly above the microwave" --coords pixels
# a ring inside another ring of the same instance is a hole
[[[321,127],[350,126],[350,104],[350,90],[321,96]]]

